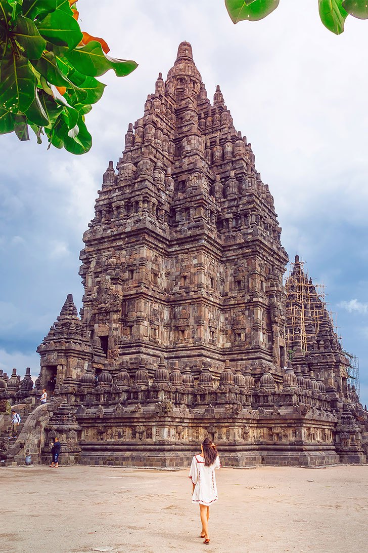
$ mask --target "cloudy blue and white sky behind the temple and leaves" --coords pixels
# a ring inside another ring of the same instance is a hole
[[[101,78],[108,86],[87,116],[88,154],[0,137],[0,368],[37,374],[35,348],[66,295],[81,306],[78,257],[102,174],[188,40],[209,97],[220,84],[252,143],[290,259],[299,254],[326,286],[368,403],[368,22],[349,17],[335,36],[315,0],[282,0],[268,18],[237,25],[223,0],[79,0],[78,9],[82,30],[139,67]]]

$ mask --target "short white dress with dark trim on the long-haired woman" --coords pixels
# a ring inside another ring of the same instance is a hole
[[[195,484],[192,503],[201,503],[208,506],[217,501],[215,468],[220,467],[221,463],[218,455],[209,467],[205,466],[205,460],[201,455],[193,457],[189,472],[189,478]]]

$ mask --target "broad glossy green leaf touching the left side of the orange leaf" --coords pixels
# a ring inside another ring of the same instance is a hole
[[[36,21],[36,25],[46,40],[57,46],[68,46],[70,50],[83,38],[78,22],[61,9],[48,13],[42,20]]]

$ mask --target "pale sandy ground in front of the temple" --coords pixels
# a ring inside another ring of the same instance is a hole
[[[368,551],[368,466],[217,471],[211,544],[188,471],[0,469],[7,553]]]

